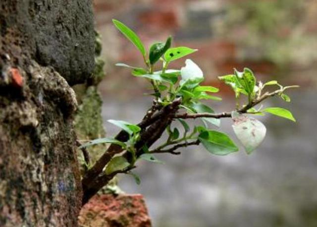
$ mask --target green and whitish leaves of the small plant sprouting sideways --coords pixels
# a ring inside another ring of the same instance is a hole
[[[247,114],[263,115],[269,113],[295,121],[293,115],[286,109],[271,107],[261,110],[261,108],[256,109],[255,106],[264,99],[275,95],[280,96],[286,102],[290,102],[285,90],[296,86],[283,87],[277,81],[262,83],[257,81],[250,69],[245,68],[242,72],[235,69],[234,74],[220,76],[219,79],[233,89],[237,102],[241,95],[245,95],[248,102],[241,107],[237,105],[235,111],[216,114],[203,101],[220,101],[221,98],[214,96],[214,93],[217,93],[219,89],[202,85],[204,74],[196,63],[187,59],[185,61],[186,65],[180,70],[168,68],[170,62],[188,56],[197,50],[188,47],[172,48],[172,38],[168,37],[164,43],[153,44],[149,48],[149,54],[147,54],[140,38],[130,28],[117,20],[113,20],[113,23],[136,46],[144,59],[145,67],[135,67],[125,63],[116,64],[131,69],[133,76],[143,77],[152,84],[154,92],[151,95],[154,96],[154,105],[147,112],[144,119],[154,118],[154,114],[158,113],[159,110],[177,103],[177,110],[168,117],[172,120],[178,120],[179,123],[175,124],[171,120],[163,128],[167,134],[167,139],[156,148],[150,149],[153,143],[149,145],[146,142],[141,143],[143,145],[140,153],[137,144],[142,142],[142,133],[145,132],[145,129],[140,124],[137,125],[122,120],[108,120],[120,127],[128,135],[128,139],[120,140],[118,137],[100,138],[81,146],[81,148],[85,148],[95,144],[110,143],[120,147],[122,152],[113,155],[106,163],[104,169],[106,175],[115,172],[130,173],[139,183],[138,176],[130,171],[139,160],[161,163],[154,154],[179,154],[175,151],[176,149],[200,143],[213,155],[228,155],[237,152],[239,150],[238,146],[231,138],[227,134],[215,130],[220,126],[220,118],[223,117],[232,118],[233,131],[248,154],[262,143],[266,128],[262,122]],[[159,62],[161,63],[161,69],[155,71],[154,66]],[[264,92],[264,88],[266,89],[269,86],[276,86],[278,89],[273,92]],[[200,118],[201,123],[197,123],[191,128],[186,122],[186,119],[190,118]],[[183,129],[179,129],[177,125],[181,125]],[[129,156],[124,152],[127,152]]]

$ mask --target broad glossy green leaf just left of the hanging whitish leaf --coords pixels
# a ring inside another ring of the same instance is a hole
[[[239,150],[229,136],[222,132],[206,130],[199,134],[198,139],[214,155],[228,155]]]

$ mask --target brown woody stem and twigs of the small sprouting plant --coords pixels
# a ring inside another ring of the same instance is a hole
[[[248,105],[237,110],[238,113],[244,114],[247,113],[249,109],[256,106],[257,104],[264,101],[266,98],[282,93],[285,88],[281,88],[275,92],[268,93],[266,92],[263,96],[258,99],[251,101]],[[213,118],[223,118],[231,117],[231,113],[224,112],[220,114],[210,114],[210,113],[201,113],[201,114],[176,114],[178,107],[181,104],[181,98],[174,100],[171,104],[161,107],[158,105],[157,100],[154,101],[152,108],[147,112],[142,121],[138,124],[141,127],[140,141],[136,143],[135,147],[137,149],[137,157],[144,153],[143,147],[146,145],[148,148],[151,147],[162,135],[166,127],[172,122],[173,118],[198,118],[198,117],[213,117]],[[148,127],[148,128],[147,128]],[[125,131],[120,131],[115,137],[121,142],[126,142],[129,138],[128,133]],[[190,145],[200,144],[199,140],[193,142],[185,142],[181,144],[176,144],[175,146],[165,149],[165,150],[153,150],[152,153],[169,153],[178,155],[180,152],[176,152],[178,148],[187,147]],[[135,168],[127,168],[125,170],[119,170],[112,172],[109,175],[105,173],[101,174],[106,164],[112,159],[116,154],[119,154],[123,149],[115,144],[111,144],[103,156],[96,162],[96,164],[87,171],[82,180],[83,185],[83,204],[85,204],[93,195],[95,195],[103,186],[105,186],[110,179],[112,179],[118,173],[127,173],[129,170]],[[128,161],[131,160],[131,154],[125,152],[123,154]]]

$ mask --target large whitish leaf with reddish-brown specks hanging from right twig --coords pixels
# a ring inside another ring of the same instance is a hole
[[[263,142],[266,128],[264,124],[252,117],[233,117],[233,131],[244,146],[247,154],[251,154]]]

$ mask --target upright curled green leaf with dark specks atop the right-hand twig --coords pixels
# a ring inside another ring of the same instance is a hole
[[[244,68],[243,72],[239,72],[235,69],[234,73],[243,89],[248,93],[249,96],[253,96],[256,78],[251,69]]]

